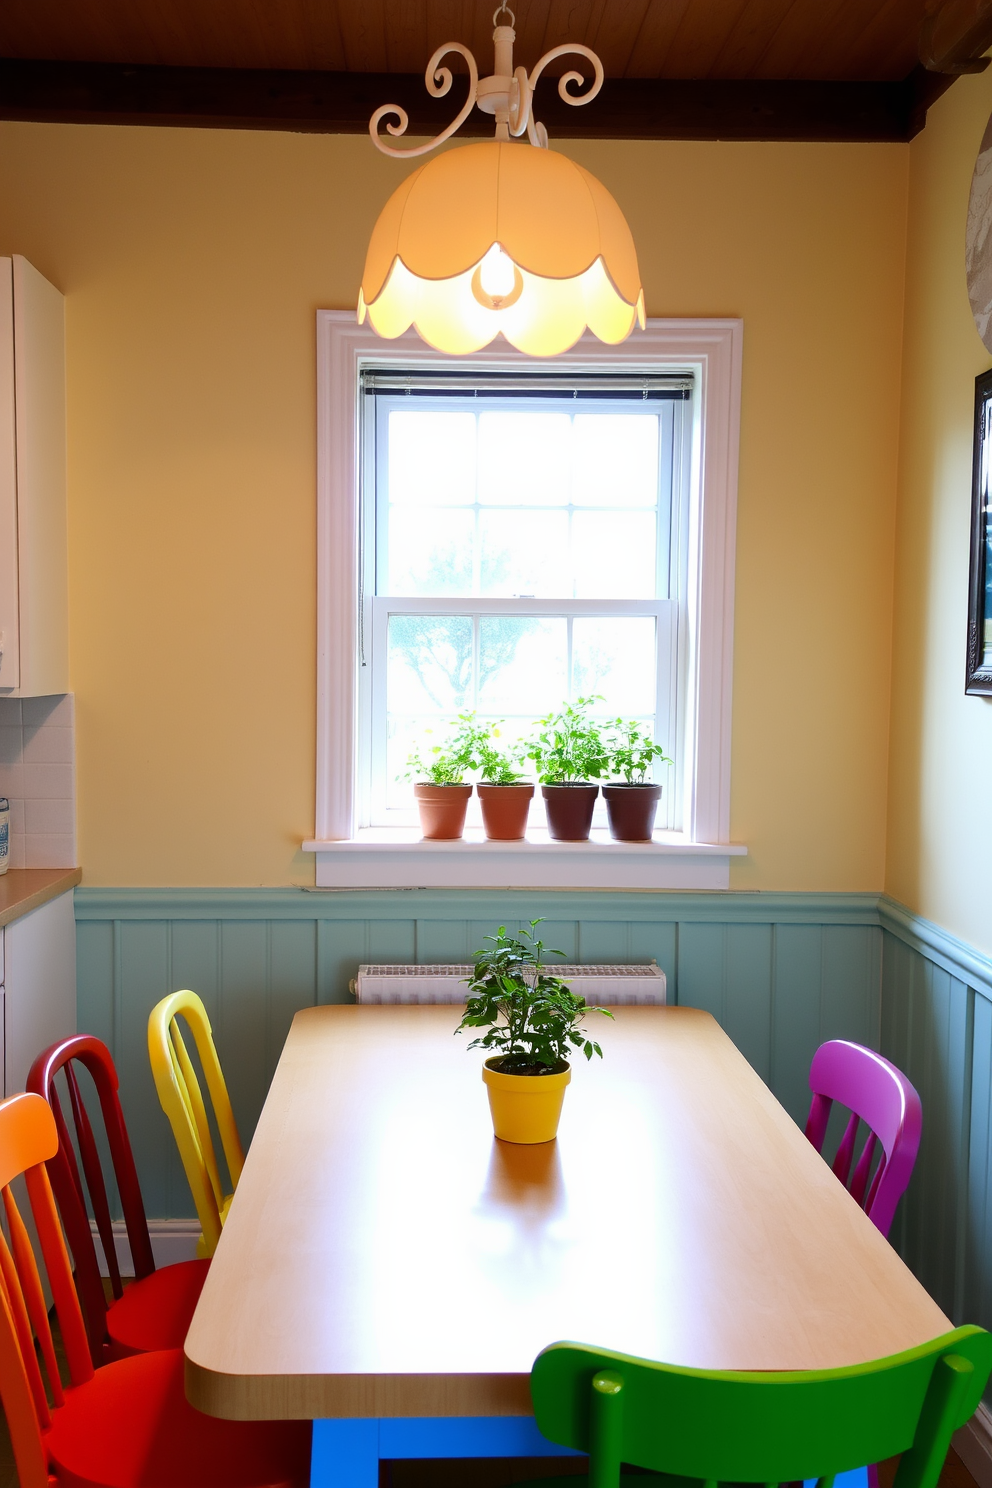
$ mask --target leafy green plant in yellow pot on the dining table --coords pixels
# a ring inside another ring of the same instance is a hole
[[[586,1013],[613,1018],[607,1007],[587,1007],[584,997],[544,970],[544,943],[534,936],[540,920],[519,936],[486,936],[492,949],[476,952],[463,1028],[488,1028],[470,1049],[494,1051],[482,1067],[492,1129],[501,1141],[553,1141],[565,1086],[568,1055],[582,1049],[587,1059],[602,1049],[586,1037]],[[564,951],[550,951],[564,955]]]

